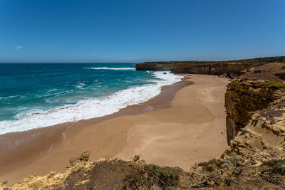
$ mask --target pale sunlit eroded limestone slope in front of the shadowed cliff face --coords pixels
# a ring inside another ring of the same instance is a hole
[[[247,157],[249,154],[262,152],[265,149],[284,151],[285,94],[283,90],[276,90],[274,93],[277,94],[276,100],[269,103],[266,108],[252,112],[245,127],[236,130],[236,137],[232,139],[224,152],[225,157],[236,155]]]

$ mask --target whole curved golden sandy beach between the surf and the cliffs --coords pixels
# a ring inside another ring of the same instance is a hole
[[[187,171],[219,157],[227,147],[227,83],[214,75],[188,75],[152,100],[114,115],[1,135],[0,181],[10,184],[31,174],[64,171],[69,159],[86,150],[91,160],[130,160],[140,154],[147,163]],[[13,139],[19,143],[9,149],[7,142]]]

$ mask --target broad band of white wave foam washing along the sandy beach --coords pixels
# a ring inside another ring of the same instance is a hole
[[[21,132],[39,127],[47,127],[63,122],[76,122],[118,112],[128,105],[136,105],[150,100],[160,93],[163,85],[170,85],[181,80],[182,76],[167,72],[157,71],[152,73],[155,82],[151,85],[141,85],[120,90],[112,95],[82,100],[75,105],[65,105],[52,110],[33,110],[16,115],[16,120],[0,122],[0,134],[8,132]]]

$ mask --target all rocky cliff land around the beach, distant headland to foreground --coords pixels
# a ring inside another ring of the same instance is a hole
[[[138,70],[223,75],[229,146],[190,171],[158,167],[135,156],[71,159],[64,173],[29,176],[2,189],[285,189],[285,57],[228,62],[139,63]]]

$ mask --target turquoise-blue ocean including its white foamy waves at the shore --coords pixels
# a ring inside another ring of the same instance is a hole
[[[166,73],[135,63],[1,63],[0,134],[113,114],[182,78]]]

